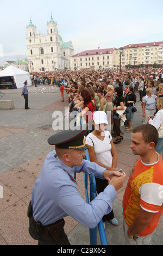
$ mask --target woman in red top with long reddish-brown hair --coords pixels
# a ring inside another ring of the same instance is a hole
[[[89,133],[93,131],[92,119],[93,113],[96,111],[96,101],[92,99],[91,94],[88,90],[84,89],[80,93],[80,100],[83,101],[82,112],[80,117],[85,117],[86,123],[89,124]]]

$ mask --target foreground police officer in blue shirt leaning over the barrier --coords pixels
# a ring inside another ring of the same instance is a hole
[[[106,170],[83,160],[86,155],[86,125],[80,130],[62,131],[48,139],[55,145],[43,163],[28,208],[29,234],[39,245],[70,245],[64,231],[64,217],[71,216],[86,227],[95,228],[112,210],[116,190],[123,186],[125,173]],[[77,190],[75,172],[85,172],[106,179],[109,185],[89,204]],[[114,175],[111,178],[111,175]]]

